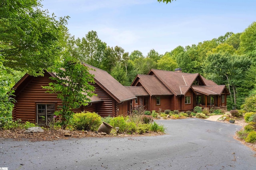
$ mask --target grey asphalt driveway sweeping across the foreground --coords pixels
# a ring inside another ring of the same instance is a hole
[[[59,141],[0,138],[8,170],[253,170],[255,152],[233,139],[241,127],[204,119],[158,121],[168,135]]]

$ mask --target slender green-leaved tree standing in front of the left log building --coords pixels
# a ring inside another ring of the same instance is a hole
[[[94,83],[94,76],[87,66],[68,55],[51,71],[56,74],[56,77],[50,77],[55,82],[42,88],[46,88],[48,93],[56,93],[57,98],[62,100],[62,106],[55,114],[60,115],[61,127],[65,129],[74,114],[73,110],[82,105],[87,106],[89,97],[94,95],[94,86],[89,84]]]

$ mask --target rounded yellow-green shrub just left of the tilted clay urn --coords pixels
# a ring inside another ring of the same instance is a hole
[[[96,131],[102,123],[100,115],[93,112],[76,113],[73,116],[72,122],[77,130]]]

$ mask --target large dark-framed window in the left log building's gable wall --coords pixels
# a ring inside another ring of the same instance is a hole
[[[36,123],[47,126],[47,120],[54,116],[54,111],[55,104],[36,104]]]

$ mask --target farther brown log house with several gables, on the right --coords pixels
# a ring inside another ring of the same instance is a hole
[[[138,74],[131,86],[126,86],[137,98],[132,107],[145,110],[193,111],[227,109],[226,97],[230,95],[225,85],[206,80],[199,73],[151,69],[148,75]]]

